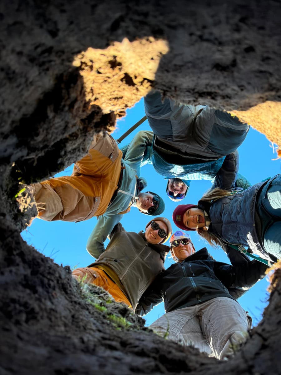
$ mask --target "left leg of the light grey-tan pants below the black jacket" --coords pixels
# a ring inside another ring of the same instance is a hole
[[[149,328],[161,337],[212,355],[211,349],[203,338],[194,306],[168,312],[152,323]]]

